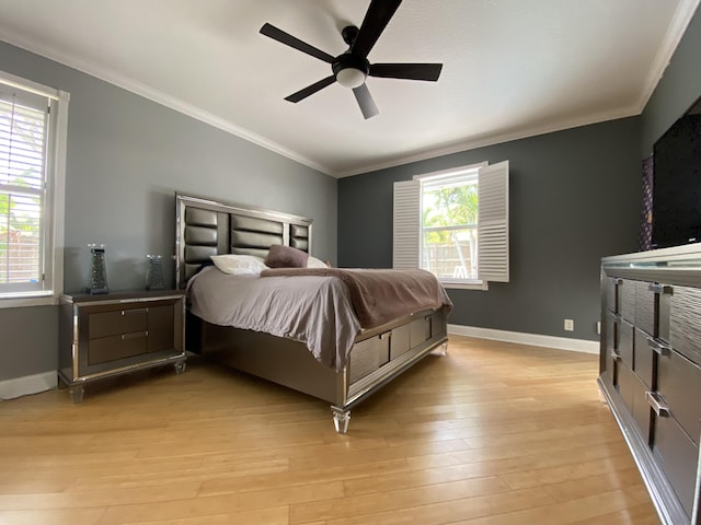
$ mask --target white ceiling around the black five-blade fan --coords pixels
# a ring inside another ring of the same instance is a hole
[[[284,97],[369,0],[0,0],[0,39],[341,177],[637,115],[699,0],[404,0],[370,62],[443,62],[438,82],[369,78],[364,120],[338,85]],[[1,63],[0,63],[1,69]]]

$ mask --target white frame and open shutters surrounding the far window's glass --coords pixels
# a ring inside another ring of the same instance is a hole
[[[508,161],[471,164],[394,183],[393,268],[421,267],[423,243],[422,182],[474,172],[478,177],[478,279],[440,278],[446,288],[489,290],[489,281],[508,282]]]

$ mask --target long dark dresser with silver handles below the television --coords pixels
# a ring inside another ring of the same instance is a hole
[[[660,521],[701,523],[701,245],[601,259],[599,369]]]

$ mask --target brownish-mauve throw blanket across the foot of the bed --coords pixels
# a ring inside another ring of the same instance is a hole
[[[261,277],[318,276],[341,279],[363,328],[375,328],[392,319],[452,303],[436,277],[426,270],[273,268]]]

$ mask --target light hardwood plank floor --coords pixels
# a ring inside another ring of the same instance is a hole
[[[591,354],[451,337],[333,431],[198,360],[0,402],[0,524],[658,524]]]

